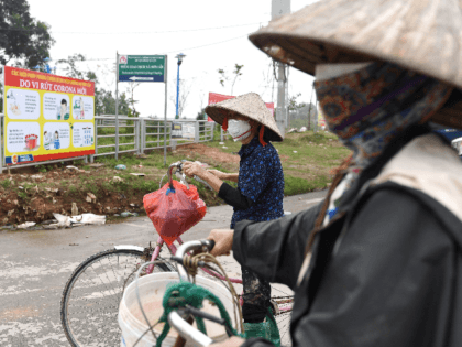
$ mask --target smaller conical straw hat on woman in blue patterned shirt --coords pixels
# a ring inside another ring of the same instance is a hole
[[[209,105],[206,107],[206,113],[220,126],[223,123],[224,118],[232,113],[256,120],[262,126],[265,126],[267,140],[283,141],[283,135],[277,129],[273,115],[260,95],[255,93],[244,94],[233,99]]]

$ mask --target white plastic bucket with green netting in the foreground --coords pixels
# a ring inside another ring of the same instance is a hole
[[[139,279],[141,303],[143,304],[143,308],[151,324],[154,324],[164,312],[164,308],[162,307],[162,300],[166,289],[172,283],[177,282],[179,282],[177,272],[153,273]],[[220,299],[231,317],[233,326],[235,326],[231,293],[220,283],[201,276],[196,276],[196,284],[208,289]],[[205,302],[205,310],[216,316],[220,316],[218,307],[210,306],[207,301]],[[207,319],[205,319],[205,323],[207,335],[212,339],[222,340],[227,338],[224,327]],[[121,347],[133,347],[140,336],[143,335],[148,328],[148,325],[140,311],[136,299],[135,282],[130,283],[123,293],[123,297],[119,307],[119,326],[122,330]],[[154,332],[157,336],[161,335],[163,327],[164,324],[158,324],[154,328]],[[162,346],[174,346],[177,336],[178,335],[175,329],[170,328],[170,332],[164,339]],[[136,347],[152,347],[155,345],[155,343],[156,340],[153,334],[148,332],[138,343]]]

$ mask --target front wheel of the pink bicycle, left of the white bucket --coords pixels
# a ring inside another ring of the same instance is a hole
[[[138,250],[111,249],[88,258],[74,271],[61,302],[61,321],[72,346],[120,345],[118,313],[123,289],[145,259]],[[154,268],[154,272],[166,271],[175,268],[168,263]]]

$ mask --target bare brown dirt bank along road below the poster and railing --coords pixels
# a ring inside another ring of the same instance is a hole
[[[239,169],[239,155],[220,152],[201,143],[184,145],[169,154],[182,155],[185,159],[200,160],[210,166],[222,165],[228,170]],[[151,153],[150,155],[158,155]],[[122,212],[143,214],[143,196],[148,191],[112,192],[109,183],[122,173],[144,173],[145,180],[157,182],[153,189],[158,188],[158,182],[165,170],[152,166],[128,167],[127,172],[112,167],[97,165],[84,170],[66,169],[69,163],[47,165],[47,172],[38,172],[35,167],[11,170],[10,174],[0,175],[0,226],[19,225],[24,221],[43,223],[54,219],[53,213],[73,215],[73,203],[78,214],[92,213],[97,215],[120,215]],[[165,183],[165,181],[164,181]],[[88,187],[94,187],[90,193]],[[95,187],[96,186],[96,187]],[[95,192],[97,191],[97,192]],[[90,194],[92,195],[90,195]],[[94,196],[96,198],[94,198]],[[217,197],[208,199],[208,205],[218,205]]]

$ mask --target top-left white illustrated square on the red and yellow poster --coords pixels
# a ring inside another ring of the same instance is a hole
[[[7,116],[11,119],[38,119],[37,91],[11,88],[7,93]]]

